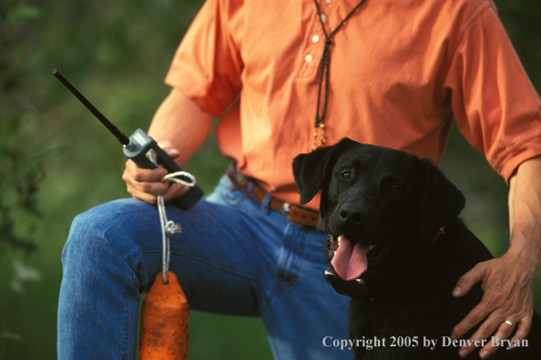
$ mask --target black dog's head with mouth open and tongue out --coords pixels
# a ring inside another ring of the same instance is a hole
[[[430,160],[347,138],[297,156],[293,174],[301,204],[322,190],[331,267],[345,282],[412,265],[464,207]]]

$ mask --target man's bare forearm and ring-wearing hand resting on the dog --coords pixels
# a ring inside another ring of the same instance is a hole
[[[452,336],[459,338],[481,324],[471,340],[485,340],[494,335],[507,339],[525,339],[530,331],[534,313],[533,288],[541,261],[541,156],[526,160],[509,179],[509,250],[498,259],[486,261],[462,276],[454,289],[454,296],[466,294],[473,285],[482,282],[485,292],[481,303],[458,325]],[[513,326],[508,325],[509,321]],[[459,350],[463,357],[475,346]],[[486,358],[498,347],[487,342],[479,355]]]

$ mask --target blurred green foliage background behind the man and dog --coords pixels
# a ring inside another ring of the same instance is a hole
[[[56,358],[60,256],[70,222],[91,206],[127,196],[119,145],[51,70],[61,70],[128,134],[146,129],[168,94],[163,78],[172,56],[202,3],[0,1],[1,359]],[[541,3],[496,5],[539,91]],[[209,193],[226,166],[211,136],[186,169]],[[466,195],[468,225],[495,255],[503,254],[508,239],[503,180],[456,129],[442,167]],[[15,291],[12,280],[21,276],[15,261],[36,269],[41,280]],[[537,311],[540,298],[538,280]],[[190,358],[271,358],[259,319],[190,316]]]

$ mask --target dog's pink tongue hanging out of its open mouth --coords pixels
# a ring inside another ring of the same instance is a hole
[[[352,280],[361,276],[368,268],[367,252],[367,247],[360,244],[352,246],[352,243],[342,235],[340,245],[331,261],[336,274],[344,280]]]

